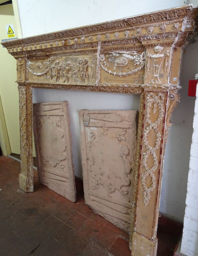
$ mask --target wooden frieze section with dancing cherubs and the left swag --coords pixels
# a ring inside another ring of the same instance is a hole
[[[95,85],[96,54],[56,56],[27,62],[30,81],[51,84]]]

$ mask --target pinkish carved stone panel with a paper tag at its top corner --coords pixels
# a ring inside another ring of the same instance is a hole
[[[136,110],[79,113],[85,203],[127,232],[133,207],[136,117]]]

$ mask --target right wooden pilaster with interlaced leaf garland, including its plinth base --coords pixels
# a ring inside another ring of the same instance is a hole
[[[157,220],[161,187],[165,118],[168,91],[160,89],[144,93],[141,146],[138,171],[136,213],[132,226],[132,255],[156,255]],[[141,126],[140,126],[141,127]],[[140,132],[140,131],[139,131]],[[141,245],[141,246],[140,246]],[[142,248],[147,248],[145,251]]]

